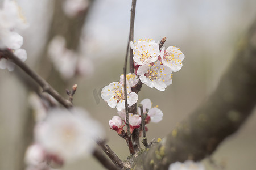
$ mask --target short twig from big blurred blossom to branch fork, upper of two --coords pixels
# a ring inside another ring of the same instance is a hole
[[[105,143],[105,141],[98,142],[98,145],[102,148],[106,155],[112,160],[115,165],[123,168],[122,160],[115,154],[115,152]]]

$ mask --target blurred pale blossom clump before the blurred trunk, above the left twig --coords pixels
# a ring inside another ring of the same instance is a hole
[[[62,36],[55,36],[52,39],[48,46],[48,54],[64,79],[70,79],[76,74],[88,76],[94,72],[92,61],[67,49],[66,41]]]

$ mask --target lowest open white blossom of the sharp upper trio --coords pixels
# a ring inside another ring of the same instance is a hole
[[[139,66],[137,75],[142,83],[160,91],[164,91],[168,85],[172,84],[172,70],[160,65],[160,62]]]

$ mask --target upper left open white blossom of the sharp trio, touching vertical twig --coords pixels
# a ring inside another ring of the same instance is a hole
[[[130,42],[133,49],[133,59],[138,65],[146,65],[158,60],[159,45],[152,39],[139,40],[138,42]]]

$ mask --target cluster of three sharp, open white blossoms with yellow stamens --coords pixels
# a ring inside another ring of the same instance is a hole
[[[172,84],[172,72],[182,67],[184,54],[179,48],[163,47],[159,52],[159,45],[152,39],[134,41],[130,43],[133,49],[134,65],[138,68],[137,75],[142,83],[160,91]]]

